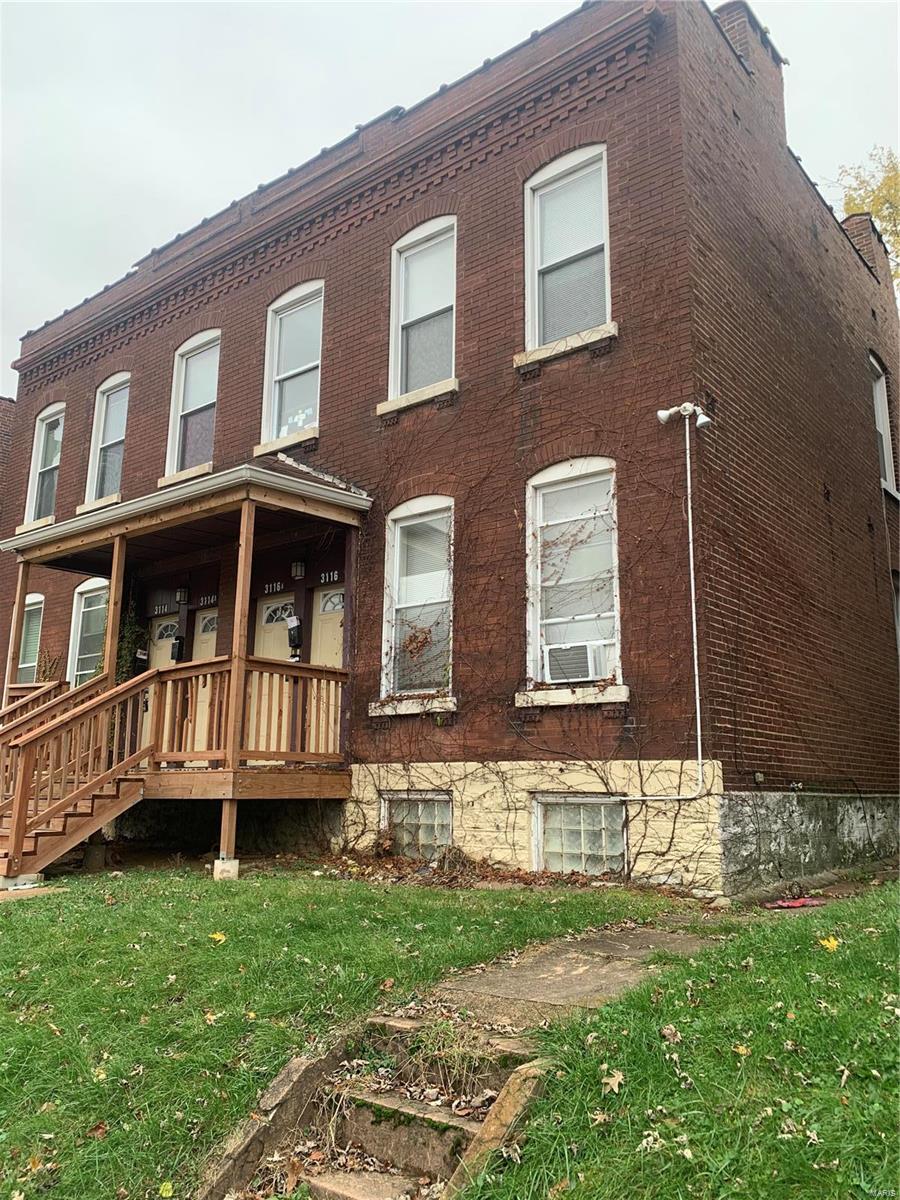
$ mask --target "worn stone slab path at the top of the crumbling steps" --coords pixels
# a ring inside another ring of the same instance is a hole
[[[616,1000],[647,978],[656,950],[691,955],[706,944],[692,934],[647,928],[574,937],[461,972],[432,996],[480,1021],[524,1028]]]

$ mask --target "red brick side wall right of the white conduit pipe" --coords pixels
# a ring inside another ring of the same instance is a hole
[[[743,5],[730,8],[743,10]],[[678,6],[709,751],[726,785],[896,792],[898,674],[868,354],[898,314],[706,12]],[[775,31],[776,35],[776,31]],[[752,28],[749,37],[755,35]],[[875,239],[872,239],[875,244]]]

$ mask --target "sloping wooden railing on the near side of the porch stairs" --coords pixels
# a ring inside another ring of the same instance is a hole
[[[108,786],[118,793],[120,776],[152,757],[144,698],[157,676],[145,671],[10,744],[12,796],[0,803],[0,816],[10,814],[7,875],[19,874],[26,838],[52,832],[55,818],[82,800],[92,805]]]

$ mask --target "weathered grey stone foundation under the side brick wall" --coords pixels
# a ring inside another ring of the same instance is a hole
[[[726,895],[898,852],[895,796],[727,792],[720,805]]]

